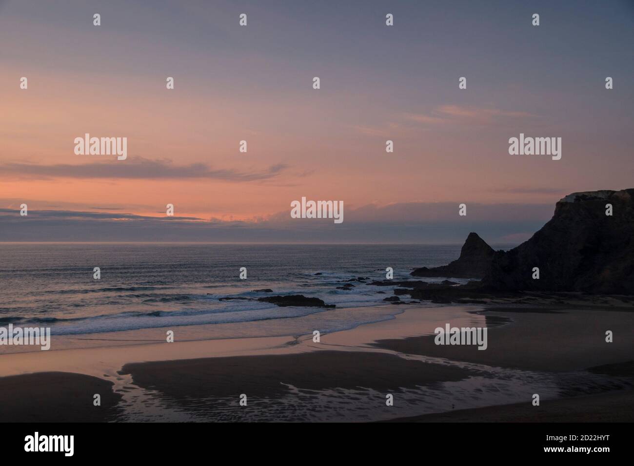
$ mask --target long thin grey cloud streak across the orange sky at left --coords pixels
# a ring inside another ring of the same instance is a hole
[[[260,171],[212,169],[207,164],[173,165],[171,160],[134,159],[109,160],[90,164],[39,165],[6,162],[0,165],[4,178],[76,178],[76,179],[221,179],[224,181],[258,181],[275,178],[288,168],[286,164],[271,165]]]

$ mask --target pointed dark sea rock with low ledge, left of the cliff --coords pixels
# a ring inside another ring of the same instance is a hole
[[[462,245],[460,257],[441,267],[415,269],[412,276],[444,276],[451,278],[482,278],[489,270],[495,251],[476,233],[469,233]]]

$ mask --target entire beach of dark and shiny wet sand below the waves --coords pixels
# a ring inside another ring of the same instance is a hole
[[[258,337],[262,326],[281,324],[271,320],[240,327],[238,337],[235,329],[212,325],[176,328],[173,343],[165,342],[166,329],[159,328],[56,337],[51,351],[13,347],[16,352],[8,353],[2,347],[0,417],[23,422],[634,420],[634,374],[628,364],[634,359],[634,313],[384,306],[332,309],[313,317],[314,325],[337,312],[398,314],[323,333],[320,342],[313,342],[312,334]],[[488,349],[436,346],[434,328],[445,323],[488,327]],[[605,342],[605,330],[614,332],[613,343]],[[534,391],[543,396],[540,406],[531,405]],[[100,406],[93,404],[95,394]],[[248,407],[239,405],[240,394],[249,397]],[[386,394],[394,396],[394,406],[385,404]],[[518,398],[526,401],[490,406]],[[344,411],[349,414],[337,417]]]

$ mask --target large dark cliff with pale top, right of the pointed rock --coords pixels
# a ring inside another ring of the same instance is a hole
[[[539,268],[539,279],[533,268]],[[634,189],[562,198],[552,219],[529,240],[495,252],[482,287],[634,294]]]

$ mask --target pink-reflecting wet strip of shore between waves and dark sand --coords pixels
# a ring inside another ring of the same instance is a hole
[[[416,309],[424,314],[408,314],[408,311]],[[34,350],[28,346],[4,346],[4,349],[12,349],[11,353],[0,353],[0,377],[7,375],[20,375],[34,372],[65,372],[74,369],[76,372],[86,375],[101,377],[102,373],[112,375],[127,363],[141,363],[152,361],[172,361],[179,359],[197,359],[223,356],[254,356],[257,354],[284,354],[300,351],[313,351],[318,347],[311,346],[313,329],[318,327],[319,321],[323,321],[325,314],[369,311],[371,313],[384,312],[385,320],[372,323],[359,323],[356,327],[339,330],[337,332],[321,333],[320,347],[332,346],[334,349],[352,347],[359,351],[389,351],[374,349],[370,343],[377,335],[387,337],[404,337],[410,335],[407,330],[408,323],[416,321],[420,327],[413,335],[425,332],[433,332],[434,323],[444,321],[447,316],[454,316],[460,321],[484,321],[484,318],[471,316],[467,311],[480,309],[472,306],[450,307],[420,307],[415,305],[403,306],[372,306],[351,307],[347,309],[331,309],[320,314],[310,314],[301,318],[281,318],[267,321],[254,321],[254,327],[264,325],[276,326],[281,321],[299,320],[306,321],[307,327],[301,335],[285,333],[283,335],[261,335],[261,330],[256,333],[247,329],[240,336],[223,338],[223,328],[242,328],[249,323],[227,323],[192,325],[186,327],[159,327],[139,330],[126,330],[122,332],[91,333],[77,338],[74,335],[58,335],[55,337],[55,345],[49,351]],[[436,319],[428,319],[429,313],[435,312]],[[398,321],[398,322],[397,322]],[[313,326],[314,324],[314,326]],[[175,332],[175,341],[167,343],[165,331],[178,329]],[[181,333],[186,334],[184,340],[179,340]],[[283,332],[281,332],[283,333]],[[130,335],[145,336],[146,339],[130,339]],[[134,342],[134,344],[131,344]],[[94,343],[94,344],[93,344]],[[60,348],[61,346],[61,348]],[[6,351],[6,350],[5,350]],[[96,366],[98,364],[99,366]],[[23,368],[29,368],[27,372]],[[35,370],[32,370],[35,369]]]

